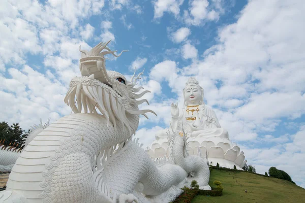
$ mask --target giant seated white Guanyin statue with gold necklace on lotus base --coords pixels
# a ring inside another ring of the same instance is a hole
[[[183,89],[184,106],[179,112],[176,104],[171,105],[171,127],[188,137],[190,155],[205,155],[212,165],[241,169],[247,162],[236,143],[229,140],[226,129],[221,127],[215,112],[203,102],[203,88],[194,78],[189,78]],[[156,140],[147,148],[151,158],[169,156],[168,134],[164,129],[156,134]]]

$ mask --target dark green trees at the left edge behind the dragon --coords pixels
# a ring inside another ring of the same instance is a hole
[[[28,133],[29,130],[23,130],[19,126],[19,123],[13,123],[12,125],[9,125],[8,122],[5,121],[0,123],[0,141],[1,144],[6,146],[14,145],[17,146],[16,148],[21,147],[22,140]]]

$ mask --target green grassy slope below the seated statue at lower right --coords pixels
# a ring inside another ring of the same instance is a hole
[[[223,196],[196,196],[199,202],[305,202],[305,189],[285,180],[267,178],[246,172],[212,170],[209,185],[218,180],[224,187]],[[248,190],[248,193],[245,192]]]

